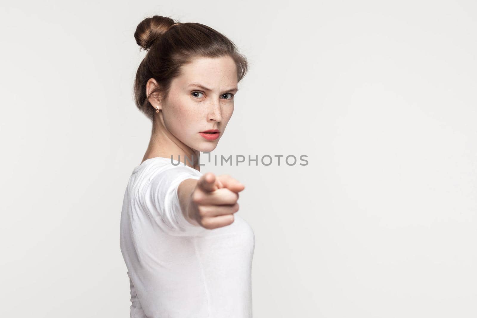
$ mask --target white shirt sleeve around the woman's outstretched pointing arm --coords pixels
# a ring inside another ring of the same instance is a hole
[[[156,223],[170,235],[191,236],[207,231],[202,226],[189,223],[179,204],[177,190],[181,182],[200,179],[200,175],[194,174],[191,169],[184,165],[161,168],[145,187],[145,208]]]

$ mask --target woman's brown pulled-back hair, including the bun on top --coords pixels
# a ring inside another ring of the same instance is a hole
[[[180,67],[198,57],[230,56],[237,65],[237,82],[248,70],[247,58],[235,44],[218,31],[196,22],[175,23],[169,17],[155,15],[137,25],[136,43],[147,51],[134,81],[137,108],[149,119],[156,112],[149,103],[152,94],[167,98],[173,78],[180,76]],[[157,86],[146,96],[146,83],[154,78]]]

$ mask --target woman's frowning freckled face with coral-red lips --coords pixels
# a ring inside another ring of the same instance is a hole
[[[181,71],[172,80],[167,99],[160,103],[163,124],[188,147],[210,152],[234,112],[236,64],[231,57],[201,57],[183,65]],[[207,130],[218,133],[201,133]]]

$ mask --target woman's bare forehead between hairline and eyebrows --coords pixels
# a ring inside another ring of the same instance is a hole
[[[175,80],[180,85],[196,82],[210,88],[234,87],[237,85],[237,67],[229,57],[199,57],[182,65],[181,75]]]

